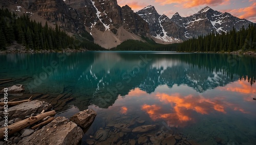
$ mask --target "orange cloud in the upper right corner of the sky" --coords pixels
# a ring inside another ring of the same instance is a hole
[[[239,18],[245,18],[251,20],[254,23],[256,22],[256,2],[252,3],[252,5],[250,5],[249,7],[240,9],[227,9],[222,10],[222,12],[228,12]]]

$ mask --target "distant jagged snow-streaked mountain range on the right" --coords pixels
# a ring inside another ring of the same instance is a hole
[[[182,17],[179,13],[175,13],[172,18],[165,15],[160,16],[153,6],[147,6],[138,11],[137,14],[148,22],[151,34],[165,42],[172,41],[164,39],[164,34],[170,38],[185,40],[211,32],[227,32],[233,27],[240,30],[242,26],[248,27],[251,24],[246,19],[240,19],[226,12],[215,11],[209,7],[205,7],[188,17]]]

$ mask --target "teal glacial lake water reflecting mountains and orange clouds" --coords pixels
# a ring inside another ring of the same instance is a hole
[[[255,56],[151,51],[1,54],[0,64],[1,79],[26,78],[20,82],[26,93],[72,94],[69,108],[56,116],[94,109],[97,116],[82,144],[94,140],[99,130],[106,139],[114,137],[126,125],[156,125],[147,134],[172,131],[199,144],[256,142]],[[140,136],[145,133],[127,131],[119,141],[137,142]]]

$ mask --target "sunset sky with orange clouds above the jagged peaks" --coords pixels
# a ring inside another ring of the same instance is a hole
[[[208,6],[256,23],[256,0],[117,0],[117,3],[119,6],[130,6],[134,12],[152,5],[160,15],[165,14],[169,18],[176,12],[181,16],[190,16]]]

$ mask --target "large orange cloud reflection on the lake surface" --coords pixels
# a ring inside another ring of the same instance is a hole
[[[141,109],[153,119],[164,119],[168,126],[184,127],[189,122],[196,121],[195,113],[209,114],[210,112],[226,113],[227,108],[242,113],[248,113],[233,103],[224,101],[224,98],[204,98],[201,96],[181,96],[179,93],[172,95],[159,93],[158,99],[166,105],[170,105],[169,110],[164,109],[164,105],[143,105]]]

